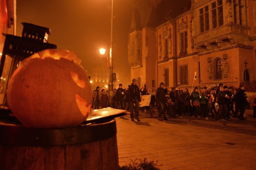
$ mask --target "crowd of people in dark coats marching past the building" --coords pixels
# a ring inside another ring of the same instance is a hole
[[[233,118],[246,120],[244,116],[245,107],[248,104],[247,95],[244,85],[233,91],[233,87],[219,84],[218,89],[207,90],[206,87],[195,87],[191,93],[187,88],[181,90],[181,85],[176,88],[172,87],[167,90],[165,84],[160,82],[159,87],[154,92],[153,88],[147,90],[146,84],[143,83],[142,88],[137,85],[137,80],[133,79],[131,85],[127,89],[119,88],[113,90],[113,107],[123,109],[130,112],[131,120],[140,121],[139,111],[148,113],[151,117],[154,116],[154,108],[158,111],[158,120],[168,121],[170,118],[183,118],[184,115],[189,115],[193,119],[205,119],[209,117],[216,118],[218,121],[228,121]],[[142,95],[151,95],[149,106],[140,107]],[[253,117],[256,112],[256,96]],[[99,86],[93,91],[94,109],[109,107],[108,91],[104,88],[100,90]],[[234,110],[235,106],[235,110]],[[253,105],[254,106],[254,105]]]

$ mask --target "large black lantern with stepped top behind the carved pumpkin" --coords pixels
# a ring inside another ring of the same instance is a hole
[[[0,105],[8,106],[6,91],[9,79],[25,58],[44,49],[56,49],[55,44],[47,42],[50,28],[23,22],[22,37],[3,34],[5,44],[0,61]],[[21,82],[22,83],[22,82]]]

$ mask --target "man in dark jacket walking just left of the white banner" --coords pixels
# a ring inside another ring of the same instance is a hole
[[[135,119],[139,122],[139,102],[140,99],[140,93],[139,93],[139,87],[137,86],[137,80],[133,79],[133,82],[131,86],[129,87],[129,96],[130,96],[130,116],[131,120],[134,121],[134,114],[133,114],[133,104],[135,104]]]

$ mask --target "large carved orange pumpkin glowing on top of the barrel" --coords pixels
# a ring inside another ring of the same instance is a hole
[[[75,53],[47,49],[26,58],[15,70],[7,101],[24,126],[71,127],[86,120],[93,95],[87,73],[74,58]]]

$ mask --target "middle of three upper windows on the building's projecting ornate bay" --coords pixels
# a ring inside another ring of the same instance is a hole
[[[212,3],[212,28],[223,25],[223,5],[222,0]]]

